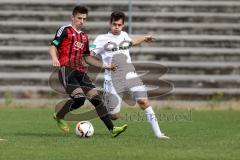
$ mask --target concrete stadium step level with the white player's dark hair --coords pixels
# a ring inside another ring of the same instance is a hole
[[[87,21],[109,21],[111,11],[90,12]],[[2,10],[0,21],[64,21],[68,20],[71,11],[31,11],[31,10]],[[126,13],[128,16],[128,13]],[[237,13],[196,13],[196,12],[133,12],[133,22],[240,22]]]

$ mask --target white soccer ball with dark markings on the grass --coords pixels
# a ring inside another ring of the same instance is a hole
[[[89,138],[94,133],[93,125],[89,121],[81,121],[76,125],[75,133],[79,137]]]

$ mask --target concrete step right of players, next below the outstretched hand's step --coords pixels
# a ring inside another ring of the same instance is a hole
[[[237,48],[143,47],[132,49],[132,58],[137,60],[237,62],[239,55]]]

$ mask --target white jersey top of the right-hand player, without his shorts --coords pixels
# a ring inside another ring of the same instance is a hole
[[[91,51],[93,51],[96,55],[101,56],[103,63],[105,64],[113,63],[113,57],[118,54],[125,55],[126,62],[131,63],[129,53],[131,45],[132,39],[129,37],[128,33],[121,31],[119,35],[113,35],[108,32],[107,34],[97,36],[93,42]],[[128,79],[136,76],[136,73],[128,73],[126,78]],[[111,80],[111,71],[105,70],[104,78],[105,80]]]

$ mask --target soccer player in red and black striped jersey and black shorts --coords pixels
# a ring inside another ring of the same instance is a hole
[[[72,24],[60,27],[57,30],[49,48],[52,65],[60,68],[59,80],[71,97],[54,114],[54,119],[64,132],[69,132],[68,124],[64,120],[65,115],[82,106],[87,98],[95,106],[98,116],[112,136],[116,137],[126,130],[127,125],[114,127],[103,100],[86,73],[87,70],[84,63],[105,69],[114,69],[116,66],[103,64],[90,56],[88,36],[81,31],[82,26],[86,22],[87,14],[88,10],[86,7],[76,6],[72,12]]]

